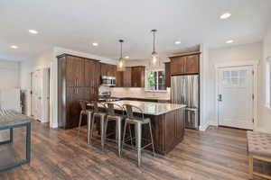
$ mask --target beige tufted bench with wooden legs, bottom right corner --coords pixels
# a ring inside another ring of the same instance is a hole
[[[253,179],[253,175],[264,177],[266,179],[271,179],[270,175],[257,173],[253,170],[254,159],[271,163],[271,134],[247,131],[247,137],[249,158],[248,172],[250,179]]]

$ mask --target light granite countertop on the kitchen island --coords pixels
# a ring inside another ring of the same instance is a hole
[[[141,108],[145,114],[149,114],[149,115],[161,115],[167,112],[172,112],[174,110],[186,107],[185,104],[177,104],[177,103],[152,103],[152,102],[126,101],[126,100],[117,101],[113,103],[117,103],[118,105],[121,105],[121,106],[123,104],[135,105]],[[91,104],[88,104],[88,105],[91,105]]]

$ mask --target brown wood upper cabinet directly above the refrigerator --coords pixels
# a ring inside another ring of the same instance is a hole
[[[200,73],[200,53],[171,57],[171,76]]]

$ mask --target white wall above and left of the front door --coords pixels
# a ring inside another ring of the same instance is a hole
[[[209,76],[207,82],[208,94],[206,94],[206,100],[209,106],[208,121],[210,124],[217,123],[217,117],[215,112],[215,106],[217,97],[215,97],[215,65],[237,61],[250,61],[262,59],[262,42],[245,44],[239,46],[231,46],[229,48],[222,49],[210,49],[209,52]],[[261,70],[259,69],[259,72]],[[260,76],[258,76],[260,81]],[[262,87],[258,85],[258,88]],[[260,92],[259,92],[260,94]],[[259,120],[260,121],[260,120]]]

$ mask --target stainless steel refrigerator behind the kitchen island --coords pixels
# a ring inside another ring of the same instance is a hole
[[[200,93],[199,75],[171,77],[172,103],[186,104],[185,128],[199,130]]]

